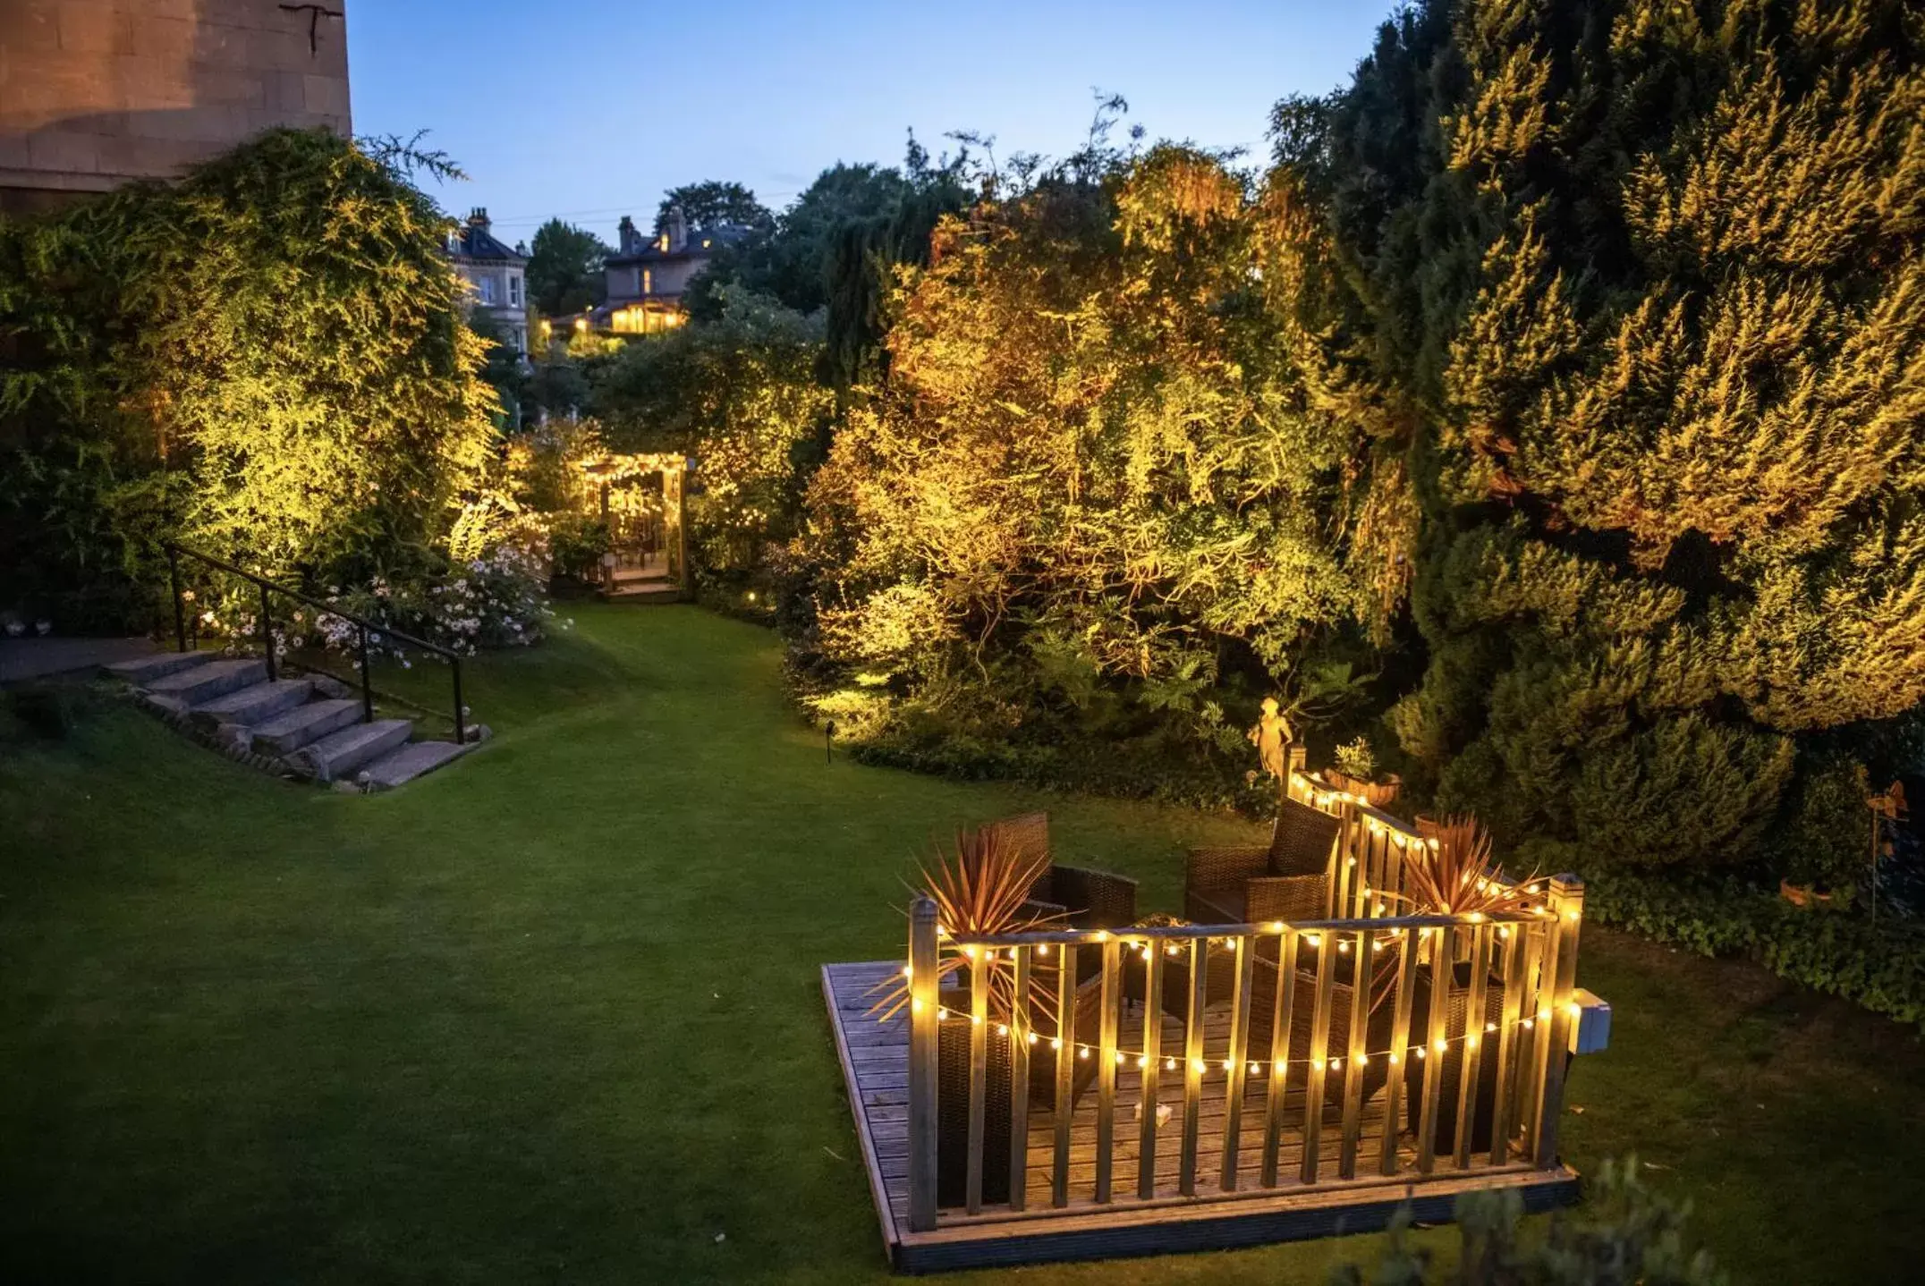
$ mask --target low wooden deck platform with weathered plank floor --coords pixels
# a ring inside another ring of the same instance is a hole
[[[1172,1107],[1170,1120],[1159,1128],[1157,1196],[1138,1197],[1138,1128],[1142,1122],[1142,1080],[1134,1068],[1116,1076],[1116,1199],[1097,1205],[1095,1192],[1095,1095],[1086,1093],[1072,1120],[1072,1167],[1068,1203],[1053,1207],[1051,1161],[1055,1120],[1047,1109],[1030,1111],[1030,1178],[1032,1194],[1026,1211],[984,1209],[966,1215],[961,1209],[941,1211],[932,1232],[909,1230],[909,1026],[907,1018],[876,1022],[868,1016],[874,1001],[868,995],[878,982],[901,972],[899,961],[866,964],[824,964],[822,993],[835,1032],[849,1103],[855,1115],[857,1140],[868,1169],[876,1219],[882,1224],[889,1263],[905,1273],[993,1267],[1065,1259],[1105,1259],[1118,1255],[1153,1255],[1184,1249],[1228,1249],[1332,1236],[1340,1232],[1371,1232],[1390,1222],[1399,1205],[1411,1203],[1426,1222],[1451,1217],[1459,1194],[1476,1188],[1515,1188],[1530,1211],[1565,1205],[1577,1199],[1577,1174],[1569,1167],[1538,1170],[1528,1165],[1486,1167],[1471,1172],[1440,1170],[1434,1176],[1415,1172],[1415,1157],[1405,1153],[1409,1169],[1396,1176],[1359,1176],[1355,1180],[1296,1180],[1303,1140],[1297,1130],[1286,1130],[1278,1170],[1288,1176],[1274,1188],[1259,1184],[1263,1157],[1263,1084],[1253,1078],[1245,1092],[1245,1111],[1240,1130],[1238,1190],[1217,1186],[1224,1142],[1224,1082],[1205,1080],[1201,1128],[1197,1140],[1197,1192],[1184,1197],[1176,1192],[1178,1147],[1182,1117],[1182,1078],[1167,1076],[1159,1101]],[[1138,1018],[1140,1020],[1140,1018]],[[1211,1015],[1211,1043],[1220,1043],[1228,1015]],[[1182,1028],[1165,1018],[1165,1047],[1180,1047]],[[1301,1111],[1297,1119],[1301,1117]],[[1374,1157],[1382,1138],[1382,1107],[1373,1099],[1365,1107],[1363,1155]],[[1322,1130],[1321,1169],[1336,1174],[1338,1132]],[[1403,1167],[1399,1167],[1403,1169]]]

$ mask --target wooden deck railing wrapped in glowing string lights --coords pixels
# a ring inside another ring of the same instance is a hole
[[[970,938],[916,901],[911,1230],[1555,1167],[1582,884],[1538,882],[1519,914],[1388,914],[1417,834],[1297,791],[1346,822],[1336,918]]]

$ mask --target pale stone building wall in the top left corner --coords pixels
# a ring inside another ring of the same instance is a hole
[[[346,0],[0,0],[0,210],[350,131]]]

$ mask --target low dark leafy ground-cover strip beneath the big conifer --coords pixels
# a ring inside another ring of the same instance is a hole
[[[1738,880],[1684,884],[1613,872],[1586,882],[1584,909],[1698,955],[1746,955],[1771,972],[1900,1022],[1925,1026],[1925,932],[1915,920],[1800,911]]]

